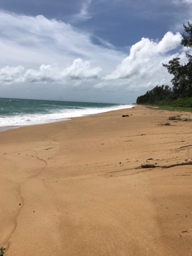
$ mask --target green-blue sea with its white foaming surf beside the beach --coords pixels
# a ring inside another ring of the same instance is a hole
[[[56,100],[25,100],[0,98],[0,131],[20,126],[45,124],[133,105]]]

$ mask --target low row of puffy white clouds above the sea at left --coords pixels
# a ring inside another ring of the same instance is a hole
[[[71,66],[60,68],[58,65],[41,65],[38,70],[22,66],[0,69],[0,83],[16,82],[63,82],[65,79],[97,79],[101,68],[91,68],[91,61],[80,58],[73,61]]]

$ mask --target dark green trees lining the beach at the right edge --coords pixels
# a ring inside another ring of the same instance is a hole
[[[181,45],[192,48],[192,24],[188,22],[187,26],[184,24],[183,27],[184,33],[182,34]],[[181,102],[183,104],[186,102],[192,103],[192,99],[190,99],[192,98],[192,56],[187,53],[186,57],[188,63],[184,65],[180,63],[180,58],[178,57],[170,60],[168,64],[162,64],[173,75],[173,79],[171,80],[173,84],[172,88],[168,85],[157,85],[144,95],[139,96],[136,102],[138,104],[169,105],[176,100],[180,104]]]

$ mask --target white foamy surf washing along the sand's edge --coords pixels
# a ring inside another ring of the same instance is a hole
[[[0,116],[0,131],[9,130],[10,128],[17,128],[18,126],[27,126],[34,124],[46,124],[53,122],[60,122],[71,117],[87,116],[112,110],[132,108],[133,105],[118,105],[106,108],[82,108],[82,109],[61,109],[53,110],[49,114],[20,114],[15,116]],[[55,111],[55,112],[54,112]]]

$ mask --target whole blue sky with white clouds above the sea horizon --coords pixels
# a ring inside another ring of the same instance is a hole
[[[172,85],[191,17],[192,0],[0,0],[0,97],[134,103]]]

